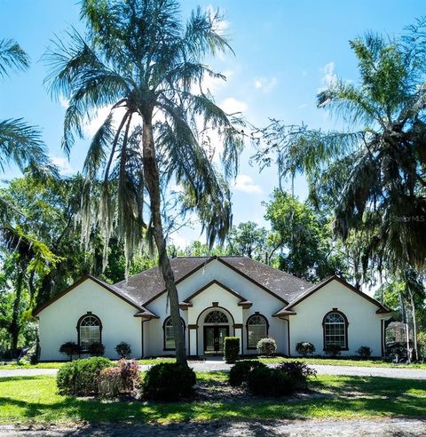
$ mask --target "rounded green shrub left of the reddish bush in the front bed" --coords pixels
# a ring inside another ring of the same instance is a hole
[[[103,357],[67,362],[58,371],[56,385],[60,394],[88,395],[98,393],[99,373],[113,363]]]

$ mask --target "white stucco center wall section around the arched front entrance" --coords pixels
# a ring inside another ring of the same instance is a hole
[[[195,324],[200,313],[207,307],[211,307],[212,302],[218,302],[219,306],[225,307],[232,314],[235,323],[243,324],[243,354],[256,354],[256,350],[247,349],[246,328],[248,317],[256,312],[263,314],[266,317],[269,323],[269,336],[276,340],[278,353],[288,354],[287,322],[282,321],[277,317],[272,317],[272,314],[279,311],[284,306],[284,303],[279,298],[275,298],[267,291],[257,287],[253,282],[242,277],[241,274],[234,272],[233,269],[225,266],[220,261],[213,260],[209,262],[205,267],[201,268],[184,281],[178,283],[177,292],[179,294],[179,300],[182,301],[189,298],[195,291],[200,290],[203,286],[214,280],[223,283],[226,287],[229,287],[241,295],[241,297],[253,302],[253,306],[248,309],[242,309],[241,306],[236,305],[236,303],[239,302],[239,299],[235,298],[233,294],[222,288],[220,288],[219,291],[215,287],[209,287],[209,289],[202,291],[199,295],[193,298],[193,307],[190,307],[185,311],[180,311],[186,325],[185,345],[187,354],[195,354],[193,351],[197,346],[198,353],[202,354],[202,324],[197,328],[198,340],[194,339],[197,335],[196,330],[188,330],[188,324],[190,326]],[[166,294],[164,293],[162,296],[156,298],[153,302],[148,304],[146,308],[154,314],[157,314],[160,319],[144,323],[144,330],[147,332],[147,341],[145,343],[144,351],[145,356],[174,354],[173,351],[163,351],[162,323],[170,314],[170,307],[167,304]],[[234,331],[233,326],[230,327],[230,335],[233,335],[234,332],[238,333],[239,331],[241,333],[241,330],[237,329]],[[189,346],[189,341],[192,343],[191,347]]]

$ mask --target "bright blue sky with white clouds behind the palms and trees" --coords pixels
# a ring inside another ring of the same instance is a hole
[[[216,3],[185,0],[183,14],[194,7],[219,8],[235,56],[213,61],[225,72],[226,83],[212,90],[228,110],[241,110],[251,123],[263,125],[268,117],[286,123],[308,123],[331,128],[334,122],[315,107],[318,90],[337,74],[357,81],[356,60],[348,41],[368,30],[398,35],[426,13],[424,0],[218,0]],[[52,101],[40,61],[52,36],[64,35],[70,26],[82,28],[75,0],[0,0],[0,38],[14,38],[31,57],[26,73],[0,83],[0,119],[24,117],[43,130],[49,153],[65,173],[82,168],[87,141],[76,144],[69,162],[60,149],[63,102]],[[87,129],[91,135],[93,126]],[[241,156],[240,175],[233,187],[234,223],[264,222],[264,207],[278,184],[276,169],[259,173]],[[18,176],[15,169],[4,178]],[[306,195],[303,178],[296,179],[296,194]],[[183,243],[199,238],[198,229],[187,228],[176,236]]]

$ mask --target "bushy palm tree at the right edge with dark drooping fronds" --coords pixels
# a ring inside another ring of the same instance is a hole
[[[312,197],[333,206],[336,234],[367,231],[369,256],[394,271],[426,265],[425,27],[352,40],[359,83],[335,77],[318,95],[343,130],[272,120],[256,155],[263,165],[277,156],[281,175],[304,172]]]

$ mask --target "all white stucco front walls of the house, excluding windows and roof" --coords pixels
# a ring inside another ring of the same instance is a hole
[[[289,316],[288,320],[281,320],[272,317],[272,314],[284,306],[279,298],[257,287],[255,283],[248,281],[220,261],[214,260],[177,285],[179,300],[185,300],[213,280],[222,282],[241,297],[253,302],[253,305],[243,309],[238,306],[239,298],[217,284],[203,290],[192,299],[192,307],[180,311],[185,322],[187,354],[203,354],[203,320],[209,310],[213,309],[213,302],[217,302],[217,305],[225,308],[226,314],[229,314],[229,334],[242,338],[242,354],[256,354],[256,350],[247,347],[248,317],[256,313],[264,315],[269,323],[268,335],[276,340],[279,354],[296,355],[296,343],[300,341],[312,342],[316,354],[323,354],[322,321],[324,315],[333,308],[343,312],[349,322],[349,350],[343,351],[343,355],[356,354],[359,346],[371,347],[375,356],[382,353],[381,319],[384,316],[375,314],[377,306],[340,282],[329,282],[295,306],[296,315]],[[130,344],[132,354],[137,358],[142,355],[174,355],[174,351],[165,351],[163,345],[163,323],[170,314],[166,293],[146,308],[160,318],[143,322],[142,339],[142,320],[134,317],[137,309],[88,279],[38,314],[41,360],[67,358],[59,354],[59,346],[66,341],[77,341],[77,321],[87,312],[97,315],[102,322],[101,340],[106,346],[106,356],[110,358],[117,358],[114,347],[121,341]]]

